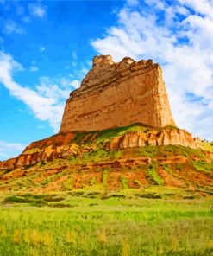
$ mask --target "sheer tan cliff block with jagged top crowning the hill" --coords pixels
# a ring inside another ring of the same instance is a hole
[[[96,56],[79,89],[66,101],[60,131],[98,131],[141,123],[175,125],[162,70],[152,60]]]

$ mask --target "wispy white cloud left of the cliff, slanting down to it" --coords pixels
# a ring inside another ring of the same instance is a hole
[[[65,100],[73,89],[72,81],[60,80],[58,86],[49,78],[41,78],[35,89],[24,87],[13,79],[13,71],[22,69],[9,54],[0,52],[0,83],[9,93],[26,104],[40,120],[48,121],[54,131],[59,131]]]

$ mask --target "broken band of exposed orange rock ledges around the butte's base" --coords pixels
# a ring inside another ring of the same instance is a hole
[[[85,152],[96,150],[98,133],[86,133],[80,140],[75,140],[77,133],[68,132],[30,144],[19,157],[0,162],[0,170],[13,170],[41,161],[52,161],[56,158],[78,157]],[[89,142],[89,144],[88,144]],[[94,142],[94,144],[92,144]],[[182,145],[197,149],[196,140],[185,130],[129,131],[123,136],[110,138],[103,144],[104,150],[122,150],[145,145]]]

